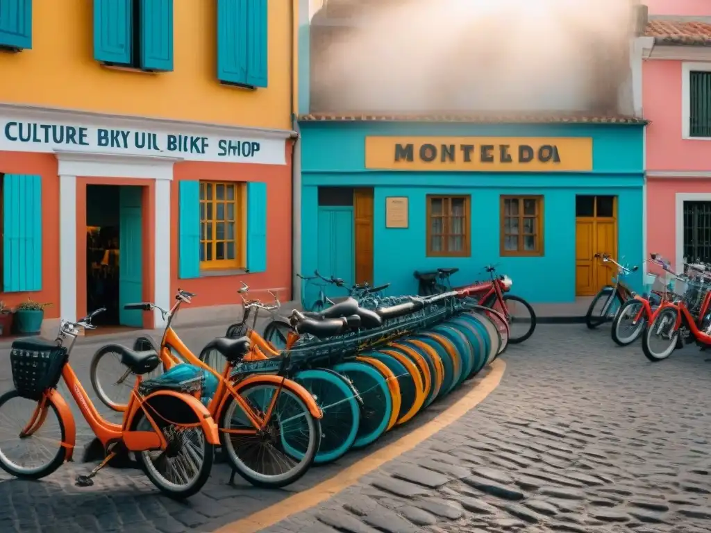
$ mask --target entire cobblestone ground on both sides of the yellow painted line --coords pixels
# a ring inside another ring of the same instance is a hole
[[[186,340],[192,348],[214,334]],[[73,358],[87,384],[95,349],[82,347]],[[711,363],[704,359],[685,348],[651,364],[638,345],[616,348],[609,330],[539,325],[533,338],[510,348],[501,385],[476,409],[357,485],[265,531],[709,532]],[[456,397],[434,404],[417,424]],[[409,429],[388,434],[383,444]],[[279,491],[241,480],[232,487],[228,469],[217,465],[186,503],[158,495],[135,470],[107,469],[84,489],[73,482],[90,465],[78,463],[36,483],[4,477],[0,531],[211,532],[371,451],[313,468]]]

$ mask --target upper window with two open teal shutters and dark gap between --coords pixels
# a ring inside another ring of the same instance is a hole
[[[173,70],[173,0],[94,0],[94,58],[146,72]]]

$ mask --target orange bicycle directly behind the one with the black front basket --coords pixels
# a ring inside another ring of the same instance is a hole
[[[157,309],[166,321],[157,350],[165,372],[154,381],[180,383],[199,377],[203,382],[202,402],[218,422],[220,442],[232,469],[260,487],[294,483],[309,470],[319,451],[321,409],[304,387],[287,378],[288,355],[265,361],[250,338],[219,337],[203,348],[203,352],[215,351],[223,357],[221,373],[196,357],[171,327],[181,303],[190,303],[193,296],[178,289],[170,311],[145,302],[124,306],[142,311]],[[107,407],[116,411],[128,409],[124,397],[107,395],[107,387],[100,379],[100,364],[111,362],[114,357],[141,357],[141,353],[144,352],[113,344],[94,355],[92,384]],[[110,379],[119,389],[127,389],[132,382],[131,370],[113,375],[119,375],[119,379]]]

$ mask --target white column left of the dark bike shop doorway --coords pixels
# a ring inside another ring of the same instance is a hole
[[[77,177],[59,176],[59,311],[77,318]]]

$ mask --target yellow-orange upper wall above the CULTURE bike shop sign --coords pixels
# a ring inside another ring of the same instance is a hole
[[[173,2],[174,71],[151,74],[94,60],[92,0],[34,1],[32,49],[0,52],[0,100],[291,129],[292,0],[269,1],[269,87],[257,90],[218,82],[216,5]]]

